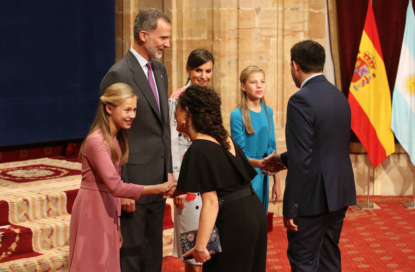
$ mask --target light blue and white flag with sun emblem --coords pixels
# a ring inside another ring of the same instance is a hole
[[[415,165],[415,15],[411,1],[393,89],[391,128]]]

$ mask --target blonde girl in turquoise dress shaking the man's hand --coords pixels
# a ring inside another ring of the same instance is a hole
[[[240,77],[241,104],[231,113],[231,136],[242,148],[258,175],[251,181],[259,199],[268,213],[269,176],[273,176],[273,204],[280,199],[281,188],[278,173],[262,174],[263,159],[276,150],[274,120],[271,107],[264,99],[265,74],[257,66],[248,66]]]

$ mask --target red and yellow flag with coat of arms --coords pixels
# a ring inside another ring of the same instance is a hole
[[[376,168],[395,152],[395,142],[391,129],[391,91],[371,0],[348,100],[352,109],[352,129]]]

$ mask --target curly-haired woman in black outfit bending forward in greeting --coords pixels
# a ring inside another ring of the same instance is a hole
[[[219,94],[200,85],[177,101],[177,130],[192,141],[177,190],[200,192],[203,202],[195,247],[183,257],[204,262],[203,272],[265,271],[267,220],[251,186],[257,173],[223,127],[220,105]],[[215,225],[222,252],[210,255],[206,246]]]

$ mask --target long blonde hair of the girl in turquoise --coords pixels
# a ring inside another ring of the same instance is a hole
[[[261,72],[265,78],[264,70],[262,70],[258,66],[251,65],[245,68],[244,70],[242,70],[241,75],[239,76],[240,83],[245,85],[247,83],[248,76],[251,73],[256,73],[256,72]],[[244,123],[247,133],[252,134],[252,133],[255,133],[255,131],[251,125],[251,117],[249,115],[249,108],[247,104],[247,93],[244,92],[242,88],[240,88],[240,90],[241,90],[241,103],[238,105],[238,109],[239,109],[239,112],[241,112],[242,122]],[[269,131],[271,131],[271,125],[269,124],[268,110],[266,109],[265,97],[263,96],[261,100],[259,100],[259,102],[261,102],[265,106],[266,119],[268,119],[268,127],[269,127]]]

